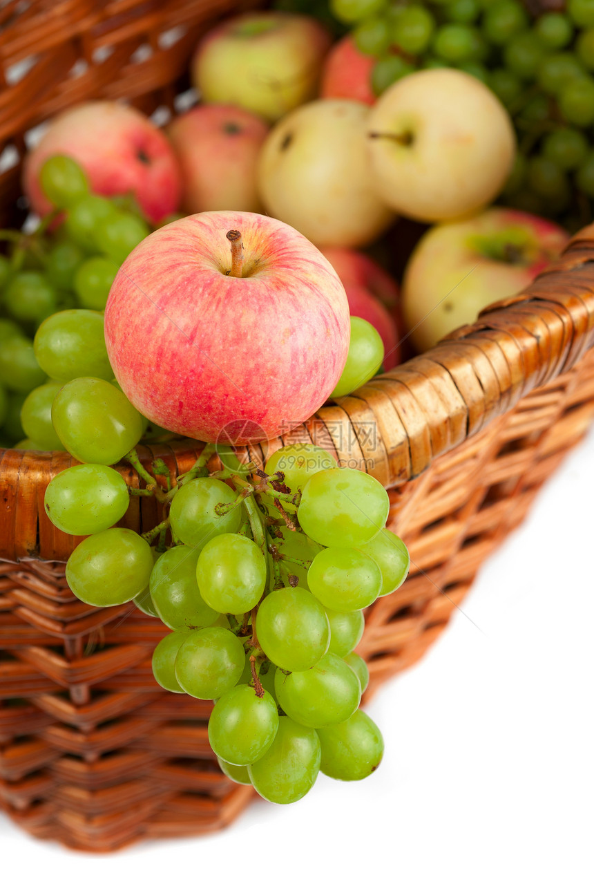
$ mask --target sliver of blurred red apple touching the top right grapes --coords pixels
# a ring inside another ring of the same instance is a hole
[[[322,69],[319,95],[323,99],[356,99],[373,105],[371,72],[375,58],[359,52],[350,34],[334,44]]]

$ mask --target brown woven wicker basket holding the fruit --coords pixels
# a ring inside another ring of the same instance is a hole
[[[28,129],[78,100],[126,97],[147,112],[171,108],[202,30],[251,5],[37,0],[23,11],[15,0],[5,4],[4,160],[18,160]],[[15,83],[13,66],[25,59]],[[77,76],[69,78],[73,66]],[[12,222],[18,195],[17,163],[0,179],[0,207]],[[483,559],[589,426],[592,343],[594,227],[525,294],[285,438],[310,439],[390,488],[390,524],[412,565],[405,585],[367,612],[359,651],[370,692],[439,635]],[[175,476],[194,462],[197,446],[142,455],[161,456]],[[261,461],[260,448],[251,453]],[[43,506],[47,482],[69,464],[63,453],[0,450],[0,806],[37,837],[94,851],[219,828],[252,792],[213,760],[210,705],[164,694],[154,682],[161,623],[127,605],[83,605],[66,586],[63,562],[76,540],[52,527]],[[153,527],[153,503],[133,499],[123,523]]]

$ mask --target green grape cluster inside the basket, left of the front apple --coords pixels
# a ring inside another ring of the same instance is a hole
[[[51,410],[62,385],[113,378],[103,310],[149,227],[128,198],[93,195],[68,157],[48,159],[40,176],[54,213],[33,233],[0,231],[11,249],[0,255],[0,445],[54,450],[62,443]]]

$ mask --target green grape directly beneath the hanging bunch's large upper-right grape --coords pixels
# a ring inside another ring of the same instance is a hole
[[[360,549],[331,546],[316,555],[308,571],[312,594],[333,611],[359,611],[375,602],[382,572]]]

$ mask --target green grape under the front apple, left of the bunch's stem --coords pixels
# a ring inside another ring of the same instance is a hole
[[[171,500],[171,530],[186,546],[205,546],[221,533],[235,533],[242,523],[242,512],[236,506],[218,515],[217,505],[235,501],[237,494],[224,480],[198,478],[180,487]]]

